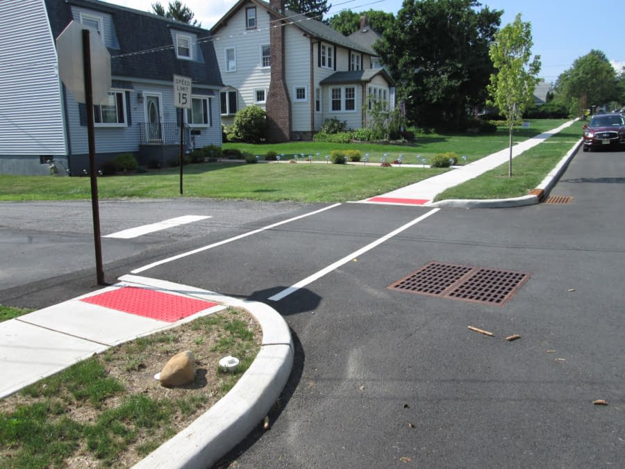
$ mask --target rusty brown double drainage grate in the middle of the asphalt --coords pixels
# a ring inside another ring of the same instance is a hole
[[[391,290],[501,306],[531,277],[525,272],[430,262],[403,279]]]

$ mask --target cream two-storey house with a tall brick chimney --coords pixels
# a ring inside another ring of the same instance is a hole
[[[272,142],[308,140],[332,118],[360,129],[393,81],[370,45],[285,9],[284,0],[239,0],[211,28],[224,88],[222,122],[237,110],[267,111]]]

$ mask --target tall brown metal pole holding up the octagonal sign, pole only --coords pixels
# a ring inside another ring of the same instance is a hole
[[[106,285],[102,268],[100,240],[100,211],[98,206],[98,178],[95,167],[95,132],[93,124],[93,86],[91,76],[91,47],[89,30],[83,29],[83,72],[85,75],[85,105],[87,106],[87,135],[89,140],[89,174],[91,178],[91,208],[93,212],[93,240],[96,254],[98,285]]]

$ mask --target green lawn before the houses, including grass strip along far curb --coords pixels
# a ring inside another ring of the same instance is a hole
[[[533,120],[530,129],[515,131],[515,142],[556,128],[565,120]],[[578,138],[577,125],[574,124],[565,133],[565,140],[573,135]],[[570,131],[575,129],[575,132]],[[551,142],[551,138],[548,142]],[[411,183],[422,181],[440,174],[447,169],[427,167],[381,167],[380,158],[385,154],[387,161],[394,161],[403,155],[404,163],[421,163],[421,156],[431,156],[447,151],[455,152],[459,163],[465,163],[462,156],[467,156],[466,163],[483,158],[494,151],[508,146],[506,129],[499,129],[492,135],[419,135],[416,145],[376,145],[376,144],[330,144],[317,142],[290,142],[280,145],[244,145],[226,144],[224,147],[236,147],[251,154],[265,155],[274,150],[284,154],[284,160],[292,159],[294,154],[313,155],[315,161],[325,161],[324,156],[333,149],[358,149],[363,155],[369,153],[369,163],[363,165],[334,165],[325,163],[297,164],[284,163],[199,163],[183,167],[184,197],[217,199],[251,199],[258,201],[301,201],[335,202],[360,200],[383,194]],[[551,147],[549,143],[539,148]],[[565,154],[565,145],[553,147]],[[551,150],[550,150],[551,152]],[[561,156],[561,155],[560,155]],[[523,156],[515,158],[522,161]],[[556,158],[557,159],[557,158]],[[551,170],[551,160],[544,160],[544,168],[531,163],[532,170],[542,172],[542,177]],[[517,164],[517,163],[515,163]],[[519,167],[520,169],[520,167]],[[137,198],[176,198],[179,195],[179,168],[153,170],[128,176],[106,176],[98,179],[101,199]],[[519,176],[524,172],[519,171]],[[535,176],[534,179],[542,179]],[[520,179],[520,177],[519,177]],[[497,180],[497,178],[494,178]],[[528,180],[529,181],[529,180]],[[533,179],[532,179],[533,181]],[[499,181],[510,186],[511,181]],[[515,183],[519,182],[515,178]],[[523,186],[529,182],[522,183]],[[497,198],[501,196],[498,186],[492,181],[472,189],[466,186],[468,198]],[[508,190],[508,189],[506,189]],[[522,190],[522,189],[519,189]],[[515,189],[513,192],[518,192]],[[90,199],[90,179],[88,177],[64,176],[12,176],[0,175],[0,201],[15,200],[72,200]]]

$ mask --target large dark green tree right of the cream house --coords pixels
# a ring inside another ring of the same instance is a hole
[[[488,56],[498,10],[474,0],[404,0],[374,48],[407,99],[408,119],[458,129],[467,108],[483,105],[493,71]]]

